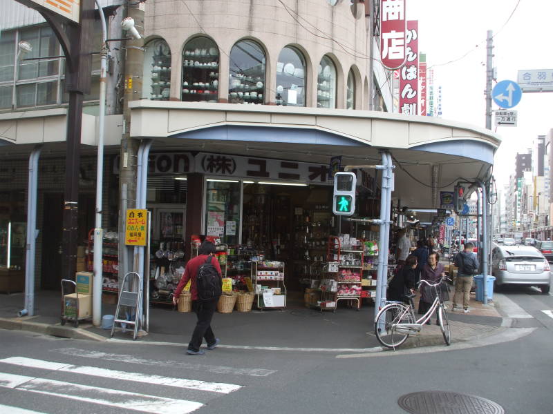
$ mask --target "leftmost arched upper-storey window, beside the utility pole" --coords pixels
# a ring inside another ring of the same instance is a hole
[[[143,73],[142,97],[168,101],[171,89],[171,50],[165,40],[155,39],[144,46]]]

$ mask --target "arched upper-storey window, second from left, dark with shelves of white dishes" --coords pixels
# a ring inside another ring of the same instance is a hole
[[[209,37],[195,37],[182,52],[182,100],[216,102],[219,91],[219,50]]]

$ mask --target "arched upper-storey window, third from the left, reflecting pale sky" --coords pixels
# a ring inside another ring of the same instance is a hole
[[[265,52],[258,43],[243,40],[230,50],[229,103],[263,103]]]

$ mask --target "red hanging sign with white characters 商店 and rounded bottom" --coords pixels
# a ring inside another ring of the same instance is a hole
[[[380,0],[380,61],[401,68],[406,59],[406,0]]]

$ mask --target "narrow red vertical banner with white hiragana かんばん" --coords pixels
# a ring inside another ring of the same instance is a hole
[[[407,22],[405,64],[400,71],[400,113],[418,115],[419,22]]]

